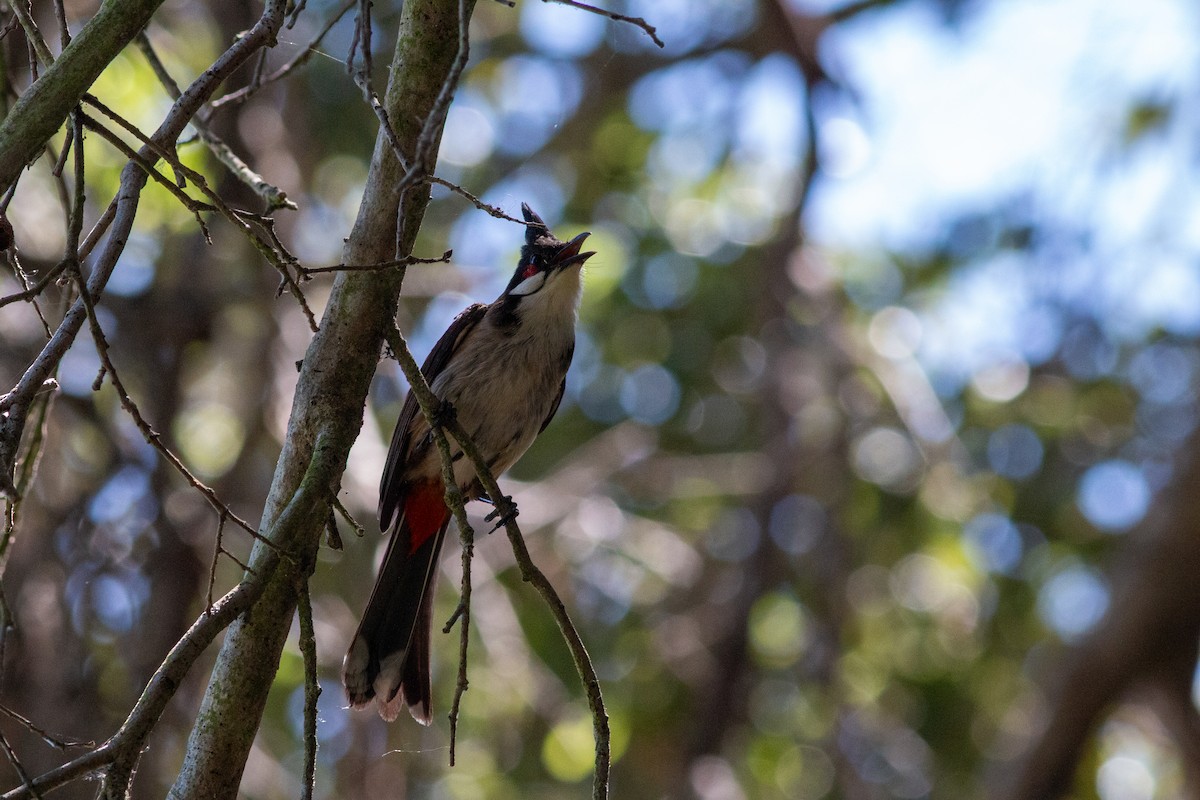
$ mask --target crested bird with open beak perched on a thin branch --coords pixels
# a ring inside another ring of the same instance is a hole
[[[528,204],[524,245],[508,287],[467,307],[433,345],[421,373],[500,475],[558,411],[575,353],[583,293],[580,252],[590,235],[559,241]],[[468,500],[492,500],[449,438],[454,480]],[[438,554],[450,524],[430,421],[409,391],[379,483],[379,527],[390,533],[374,588],[342,662],[352,708],[374,702],[391,722],[403,706],[432,722],[430,632]]]

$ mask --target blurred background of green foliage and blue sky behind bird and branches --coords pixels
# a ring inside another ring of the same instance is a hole
[[[253,22],[244,5],[169,0],[150,38],[191,79]],[[395,5],[374,7],[380,86]],[[598,251],[562,410],[502,483],[600,670],[613,795],[992,796],[1094,688],[1070,796],[1181,796],[1200,609],[1165,603],[1171,567],[1200,569],[1187,527],[1195,5],[601,5],[644,17],[666,47],[577,8],[479,0],[438,174],[510,213],[528,201],[560,237],[590,230]],[[78,25],[94,5],[66,10]],[[271,64],[338,10],[308,0]],[[352,12],[302,70],[212,119],[298,203],[278,231],[308,266],[341,259],[374,139],[344,66],[353,29]],[[18,85],[26,61],[11,35]],[[169,106],[132,49],[95,94],[146,128]],[[260,207],[199,145],[185,154]],[[98,137],[88,157],[98,213],[124,160]],[[28,271],[61,257],[46,158],[7,213]],[[114,361],[172,449],[256,521],[306,319],[244,237],[214,221],[205,243],[158,187],[136,231],[100,308]],[[418,254],[454,260],[408,270],[400,323],[419,357],[452,314],[498,294],[521,239],[434,187]],[[328,285],[305,285],[318,312]],[[0,294],[18,289],[0,275]],[[53,293],[44,306],[59,313]],[[0,338],[8,386],[44,332],[17,303],[0,308]],[[110,387],[92,390],[97,369],[82,336],[2,582],[16,627],[0,702],[80,740],[115,729],[203,610],[217,534]],[[344,549],[324,549],[312,582],[317,794],[584,796],[587,706],[502,536],[478,548],[458,765],[446,766],[442,714],[457,632],[434,640],[432,728],[343,708],[338,669],[383,545],[376,486],[404,391],[382,362],[342,494],[367,534],[343,525]],[[1164,542],[1171,555],[1156,558]],[[233,529],[224,545],[248,549]],[[448,548],[440,618],[457,555]],[[216,591],[238,576],[222,558]],[[1148,609],[1144,621],[1169,610],[1178,630],[1160,649],[1122,638],[1130,608]],[[1130,650],[1146,663],[1128,681],[1090,679],[1090,658]],[[194,672],[154,735],[137,796],[174,778],[205,678]],[[301,705],[289,646],[245,796],[298,796]],[[12,720],[0,729],[31,772],[64,759]]]

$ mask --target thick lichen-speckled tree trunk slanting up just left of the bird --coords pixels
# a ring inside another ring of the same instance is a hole
[[[456,64],[461,68],[460,14],[469,18],[473,6],[474,0],[409,0],[403,6],[384,108],[406,162],[418,154],[422,166],[434,161],[444,119],[424,121],[444,114],[439,97],[454,89]],[[406,180],[407,172],[380,130],[346,263],[374,264],[412,252],[430,191],[422,181]],[[378,270],[343,272],[334,283],[320,330],[304,359],[287,441],[259,525],[272,531],[271,543],[256,545],[251,569],[265,572],[277,553],[282,558],[258,602],[226,636],[172,798],[238,794],[299,588],[313,569],[329,500],[362,423],[402,279],[403,270]]]

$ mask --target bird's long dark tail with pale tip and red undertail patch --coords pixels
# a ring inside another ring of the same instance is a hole
[[[432,721],[430,628],[438,554],[450,524],[442,481],[413,486],[388,542],[362,621],[342,662],[350,705],[372,699],[392,721],[408,705],[421,724]]]

